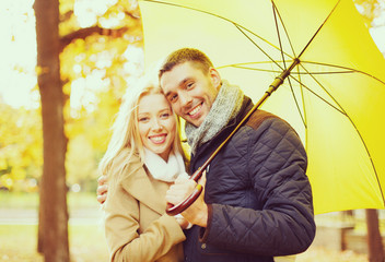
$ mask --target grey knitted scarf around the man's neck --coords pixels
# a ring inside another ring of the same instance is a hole
[[[203,143],[210,141],[220,132],[231,119],[240,112],[243,102],[243,91],[235,85],[230,85],[223,81],[212,107],[203,122],[197,128],[186,122],[185,131],[191,153]]]

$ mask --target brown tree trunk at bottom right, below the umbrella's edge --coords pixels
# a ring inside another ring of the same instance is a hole
[[[370,262],[384,262],[384,247],[378,226],[376,210],[366,210],[368,250]]]

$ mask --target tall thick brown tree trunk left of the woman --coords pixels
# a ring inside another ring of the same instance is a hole
[[[43,253],[47,262],[68,262],[68,212],[60,80],[59,0],[35,0],[37,72],[42,99],[44,165],[40,181]],[[42,248],[42,246],[40,246]]]

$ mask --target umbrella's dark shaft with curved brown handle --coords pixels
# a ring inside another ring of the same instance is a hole
[[[279,76],[275,79],[275,81],[269,85],[269,88],[265,92],[262,97],[254,105],[254,107],[247,112],[247,115],[241,120],[241,122],[234,128],[234,130],[229,134],[229,136],[218,146],[218,148],[210,155],[210,157],[201,165],[190,177],[196,182],[198,182],[199,178],[202,176],[203,170],[208,167],[211,160],[217,156],[220,150],[228,143],[228,141],[234,135],[234,133],[246,122],[246,120],[252,116],[252,114],[257,110],[265,100],[278,90],[278,87],[283,84],[283,81],[290,75],[290,72],[300,63],[300,59],[295,58],[293,62],[290,64],[288,69],[285,69]],[[188,206],[190,206],[196,199],[198,199],[199,194],[202,192],[203,188],[201,184],[197,184],[194,189],[192,193],[180,202],[177,205],[172,205],[167,203],[166,213],[168,215],[177,215],[184,212]]]

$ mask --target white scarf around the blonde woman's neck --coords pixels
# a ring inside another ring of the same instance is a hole
[[[170,153],[168,160],[165,162],[161,156],[144,148],[144,165],[151,176],[165,182],[174,182],[178,176],[186,176],[185,162],[179,153]]]

